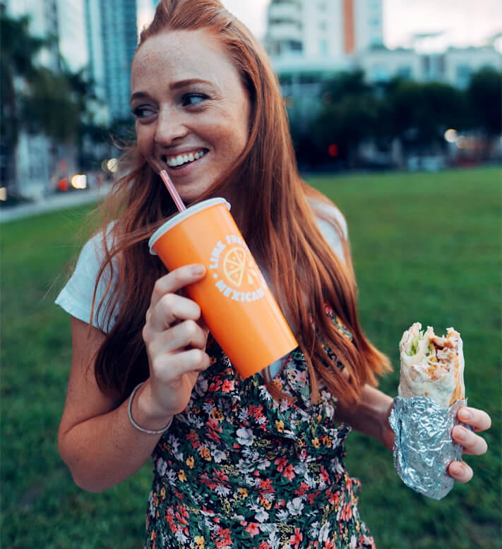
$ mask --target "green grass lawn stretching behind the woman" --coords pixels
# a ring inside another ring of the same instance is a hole
[[[323,176],[309,182],[349,224],[361,324],[395,372],[412,322],[464,339],[469,403],[489,411],[489,453],[440,502],[407,488],[392,456],[358,433],[347,468],[379,549],[501,547],[501,171]],[[151,464],[95,495],[61,463],[56,432],[71,361],[69,318],[54,306],[89,207],[9,222],[1,231],[1,546],[140,548]],[[59,278],[58,278],[59,277]]]

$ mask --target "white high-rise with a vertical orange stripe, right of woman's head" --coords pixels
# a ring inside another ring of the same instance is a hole
[[[277,73],[347,68],[383,44],[382,0],[271,0],[265,47]]]

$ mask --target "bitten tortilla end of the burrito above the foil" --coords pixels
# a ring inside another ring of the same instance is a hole
[[[444,408],[465,399],[462,339],[453,328],[446,332],[438,337],[428,326],[424,333],[415,322],[402,334],[400,397],[429,397]]]

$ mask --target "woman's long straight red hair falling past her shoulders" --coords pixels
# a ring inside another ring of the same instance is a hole
[[[309,371],[311,398],[318,398],[321,378],[345,404],[358,402],[366,382],[376,385],[376,373],[390,370],[388,358],[364,337],[357,319],[357,286],[349,246],[335,217],[326,217],[309,203],[333,203],[299,176],[289,135],[287,114],[277,77],[268,57],[251,32],[217,0],[161,0],[155,18],[141,32],[138,48],[149,37],[166,30],[207,29],[227,49],[249,92],[251,114],[245,150],[210,191],[205,200],[227,186],[237,189],[241,203],[239,229],[251,251],[270,275],[275,295],[286,317],[298,327],[297,340]],[[145,313],[155,281],[165,274],[150,255],[146,240],[175,209],[160,177],[150,168],[136,144],[121,158],[121,176],[102,205],[103,235],[114,224],[106,246],[100,276],[113,274],[114,285],[101,303],[111,330],[98,351],[95,375],[100,388],[125,399],[136,383],[148,378],[148,360],[142,339]],[[334,206],[333,206],[334,207]],[[333,225],[345,248],[344,263],[330,248],[315,216]],[[113,261],[112,261],[113,259]],[[111,277],[110,277],[111,278]],[[325,303],[349,332],[344,336],[325,313]],[[315,327],[315,328],[314,328]],[[333,351],[334,360],[323,348]],[[345,367],[346,375],[336,361]],[[275,397],[281,393],[265,375]]]

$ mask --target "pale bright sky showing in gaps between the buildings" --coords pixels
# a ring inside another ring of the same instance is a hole
[[[265,35],[266,9],[270,0],[222,0],[258,38]],[[149,0],[138,0],[141,20],[148,20]],[[141,14],[145,14],[142,16]],[[143,23],[144,24],[144,23]],[[141,25],[142,26],[142,25]],[[502,34],[501,0],[383,0],[383,41],[387,47],[412,46],[418,34],[441,32],[422,38],[417,49],[441,50],[448,46],[479,46]],[[497,47],[501,47],[502,38]]]

